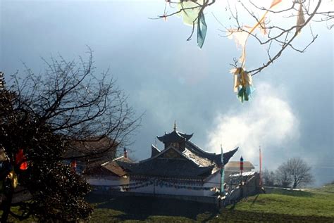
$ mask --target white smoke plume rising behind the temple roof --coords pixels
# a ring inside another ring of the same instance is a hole
[[[218,153],[220,144],[225,151],[239,146],[245,160],[257,163],[259,146],[277,155],[283,145],[298,139],[299,121],[283,92],[268,83],[256,84],[254,100],[246,102],[249,105],[218,113],[216,125],[208,133],[212,152]]]

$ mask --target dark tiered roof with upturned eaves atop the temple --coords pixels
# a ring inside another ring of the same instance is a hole
[[[219,170],[221,154],[208,153],[189,139],[191,135],[173,132],[158,137],[164,144],[170,144],[163,151],[151,146],[151,158],[139,163],[124,163],[116,161],[130,175],[142,177],[177,177],[204,179]],[[185,141],[185,148],[175,148],[174,142]],[[238,148],[223,154],[224,163],[234,155]]]

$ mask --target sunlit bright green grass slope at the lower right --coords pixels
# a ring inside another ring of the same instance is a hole
[[[307,191],[277,189],[228,206],[212,222],[334,222],[333,189],[334,185]]]

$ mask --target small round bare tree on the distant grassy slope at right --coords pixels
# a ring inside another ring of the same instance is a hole
[[[276,174],[281,186],[293,189],[313,181],[311,166],[301,158],[290,158],[278,167]]]

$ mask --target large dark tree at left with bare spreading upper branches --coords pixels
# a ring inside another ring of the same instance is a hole
[[[1,222],[8,215],[41,222],[87,219],[92,212],[84,199],[89,185],[64,160],[96,158],[127,146],[140,122],[108,72],[94,75],[91,51],[87,62],[61,57],[44,62],[42,75],[17,72],[12,86],[0,89],[0,150],[6,156],[0,166]],[[104,151],[66,157],[73,149],[69,142],[102,137],[111,139]],[[29,200],[14,202],[18,189],[27,191]],[[12,205],[20,212],[12,212]]]

